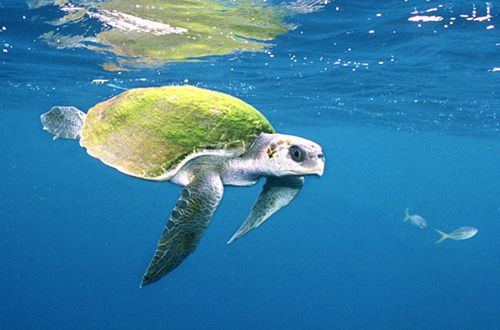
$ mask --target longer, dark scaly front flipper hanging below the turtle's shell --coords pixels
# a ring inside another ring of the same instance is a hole
[[[184,187],[142,278],[141,287],[158,281],[194,252],[223,191],[222,181],[216,173],[203,173]]]

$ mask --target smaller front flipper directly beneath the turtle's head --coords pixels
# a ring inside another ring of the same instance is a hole
[[[260,226],[271,215],[288,205],[299,193],[304,178],[301,176],[268,177],[250,214],[227,244]]]

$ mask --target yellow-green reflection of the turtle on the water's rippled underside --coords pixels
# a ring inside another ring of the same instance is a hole
[[[83,2],[54,1],[67,13],[59,31],[41,36],[58,48],[72,47],[75,39],[94,51],[116,56],[118,66],[156,67],[234,52],[262,51],[267,42],[286,33],[287,10],[263,0],[108,0]],[[94,36],[68,35],[64,26],[97,19],[106,28]],[[64,40],[73,41],[65,46]]]

